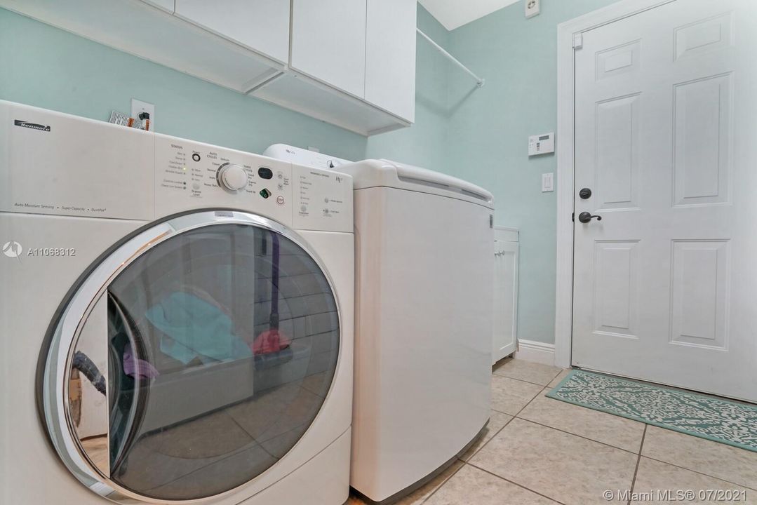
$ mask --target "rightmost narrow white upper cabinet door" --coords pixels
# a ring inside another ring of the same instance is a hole
[[[366,101],[415,120],[416,0],[368,0]]]

